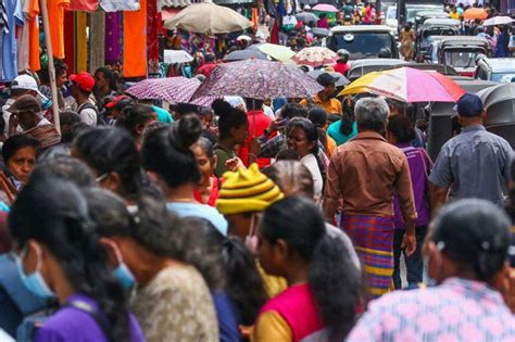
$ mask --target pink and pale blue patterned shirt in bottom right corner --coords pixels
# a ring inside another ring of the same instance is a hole
[[[515,341],[515,316],[487,283],[450,278],[369,303],[347,341]]]

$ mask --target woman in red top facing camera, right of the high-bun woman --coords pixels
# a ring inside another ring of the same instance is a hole
[[[197,189],[194,189],[194,198],[199,203],[215,206],[219,183],[218,178],[213,174],[216,167],[213,144],[206,138],[200,137],[191,147],[191,151],[193,151],[201,175]]]

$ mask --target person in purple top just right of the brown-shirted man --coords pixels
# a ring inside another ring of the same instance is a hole
[[[423,261],[420,256],[420,246],[424,242],[424,238],[427,232],[427,225],[430,220],[429,213],[429,198],[427,189],[427,177],[432,167],[432,162],[427,155],[424,149],[417,149],[410,144],[416,137],[415,128],[412,126],[410,119],[404,115],[393,115],[389,117],[387,126],[387,139],[390,143],[401,149],[407,159],[410,165],[410,174],[412,177],[413,193],[415,197],[415,207],[418,218],[415,221],[416,226],[416,243],[417,249],[412,256],[407,257],[404,254],[407,269],[407,283],[409,287],[415,287],[418,282],[422,282],[423,275]],[[402,219],[401,210],[399,206],[399,199],[397,198],[393,202],[394,206],[394,223],[395,223],[395,235],[393,238],[393,283],[395,289],[401,288],[401,275],[399,270],[400,257],[403,249],[402,237],[404,236],[404,221]]]

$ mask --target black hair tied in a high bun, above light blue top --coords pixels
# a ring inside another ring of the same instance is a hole
[[[200,170],[190,147],[201,134],[202,124],[196,115],[151,131],[141,150],[145,168],[160,175],[169,188],[198,183]]]

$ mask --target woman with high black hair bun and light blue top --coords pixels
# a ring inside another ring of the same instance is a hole
[[[205,218],[227,235],[224,216],[194,198],[201,174],[190,149],[201,132],[202,125],[194,115],[184,116],[173,126],[150,131],[141,151],[143,167],[163,189],[169,211],[180,217]]]

